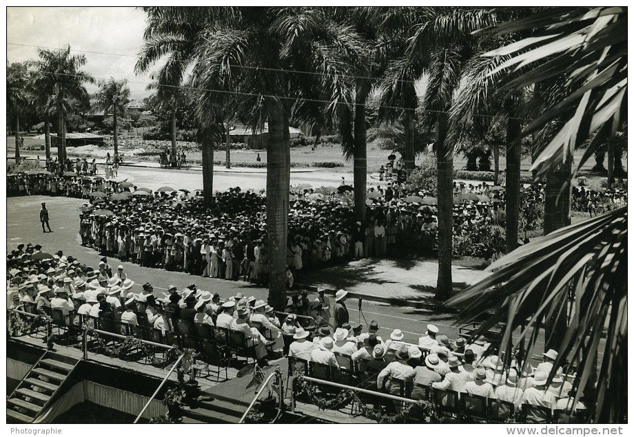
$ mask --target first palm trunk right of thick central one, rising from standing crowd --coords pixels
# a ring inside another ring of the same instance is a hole
[[[362,87],[356,90],[354,109],[354,215],[365,223],[365,202],[367,199],[367,126],[365,124],[365,100],[367,93]]]

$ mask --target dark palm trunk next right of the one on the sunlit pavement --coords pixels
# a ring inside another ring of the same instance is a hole
[[[520,224],[520,161],[522,145],[516,141],[522,131],[520,120],[509,113],[507,122],[507,253],[518,247]]]

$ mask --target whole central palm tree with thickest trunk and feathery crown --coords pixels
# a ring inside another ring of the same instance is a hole
[[[207,99],[234,96],[236,117],[254,129],[268,122],[267,250],[269,302],[286,304],[290,179],[289,120],[311,121],[349,104],[349,61],[361,41],[319,8],[233,8],[208,17],[194,82]],[[303,73],[307,72],[307,73]],[[322,102],[326,100],[329,105]]]

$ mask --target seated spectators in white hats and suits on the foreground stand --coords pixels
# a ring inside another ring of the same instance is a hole
[[[483,336],[451,340],[433,324],[427,325],[418,344],[405,343],[400,329],[381,329],[376,321],[367,326],[351,323],[345,317],[345,290],[336,293],[332,310],[329,298],[319,290],[315,299],[307,293],[301,300],[294,297],[286,314],[279,317],[255,297],[238,292],[223,299],[195,284],[182,290],[170,285],[165,287],[167,293],[157,293],[145,283],[134,292],[134,279],[123,266],[112,268],[107,257],[101,258],[99,266],[87,266],[61,251],[49,255],[39,244],[19,244],[7,255],[7,268],[7,308],[46,316],[59,310],[70,326],[78,328],[93,317],[163,332],[176,331],[183,321],[207,324],[243,332],[260,365],[287,355],[369,372],[376,376],[364,382],[366,388],[396,396],[423,399],[426,387],[433,387],[500,399],[513,403],[516,410],[522,404],[586,409],[584,399],[575,401],[564,367],[558,367],[547,384],[558,358],[555,350],[544,352],[543,362],[533,367],[530,361],[520,361],[519,354],[504,360],[495,341]],[[316,323],[310,327],[299,323],[305,315]],[[398,408],[398,403],[393,406]],[[543,421],[542,413],[531,412],[529,422]]]

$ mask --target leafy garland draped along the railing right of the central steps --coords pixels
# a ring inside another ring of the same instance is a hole
[[[303,373],[293,372],[293,379],[294,396],[306,396],[309,403],[316,405],[319,409],[338,409],[353,402],[358,405],[362,416],[375,420],[377,423],[404,423],[407,418],[411,418],[413,415],[416,415],[416,417],[429,417],[432,421],[438,420],[436,405],[427,401],[407,403],[397,414],[385,414],[373,407],[369,407],[354,390],[342,390],[334,398],[326,399],[317,396],[314,385],[305,381]],[[412,414],[412,410],[414,410],[415,414]]]

